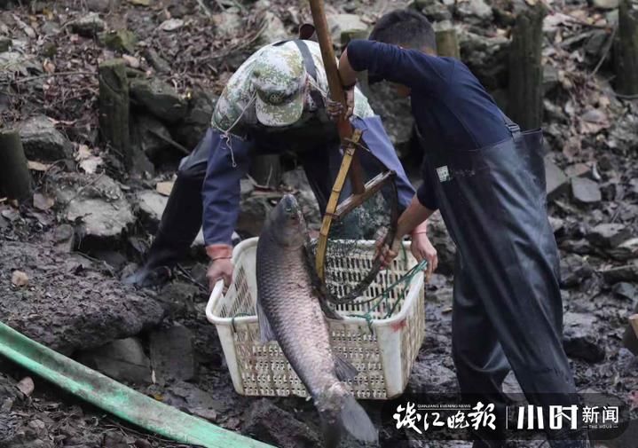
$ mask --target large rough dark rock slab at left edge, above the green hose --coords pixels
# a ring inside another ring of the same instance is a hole
[[[4,241],[0,259],[6,266],[28,265],[31,274],[28,288],[5,295],[0,321],[64,355],[138,334],[163,317],[159,303],[48,240]],[[11,287],[7,277],[0,278],[3,290]]]

